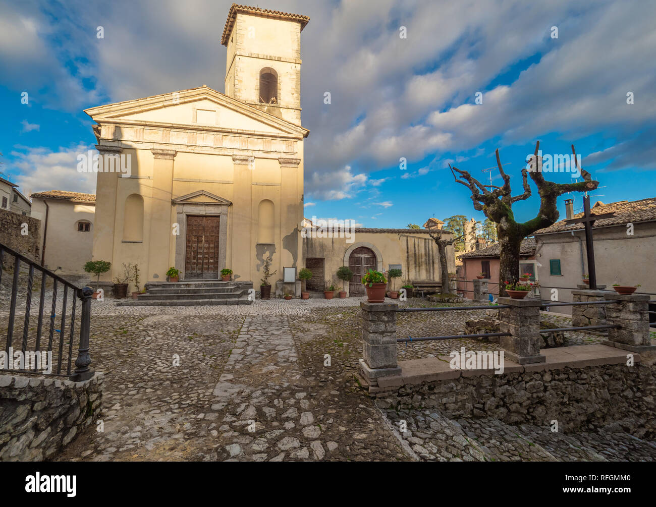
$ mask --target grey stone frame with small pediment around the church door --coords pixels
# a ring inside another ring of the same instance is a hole
[[[199,196],[207,197],[207,200],[192,201]],[[223,197],[218,197],[207,190],[198,190],[173,199],[175,206],[176,222],[180,226],[179,234],[175,238],[175,266],[180,270],[180,280],[185,279],[186,271],[186,248],[187,248],[187,216],[203,215],[218,216],[218,272],[226,267],[226,253],[228,251],[228,208],[232,202]],[[221,267],[222,266],[222,267]],[[220,276],[217,278],[220,279]]]

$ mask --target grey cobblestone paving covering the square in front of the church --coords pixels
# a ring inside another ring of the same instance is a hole
[[[38,304],[35,295],[33,309]],[[492,418],[453,420],[422,409],[411,413],[379,409],[354,377],[361,357],[359,300],[132,308],[117,307],[109,298],[92,302],[91,355],[96,371],[105,373],[103,431],[87,428],[56,459],[656,457],[653,442],[619,429],[553,434],[549,428],[512,426]],[[422,300],[401,304],[434,306]],[[0,305],[0,325],[6,325],[7,313],[7,306]],[[398,336],[459,334],[465,320],[481,314],[475,310],[403,314]],[[18,315],[16,333],[22,331],[22,312]],[[569,320],[556,315],[545,318],[560,325]],[[598,339],[567,335],[569,344]],[[468,339],[419,342],[400,345],[399,356],[448,354],[461,346],[491,350],[496,344]],[[178,360],[179,365],[174,365]],[[409,430],[403,436],[398,432],[401,418]]]

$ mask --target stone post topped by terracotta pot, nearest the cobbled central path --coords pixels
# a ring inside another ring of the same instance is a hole
[[[396,303],[360,302],[362,309],[362,355],[360,374],[370,386],[381,376],[401,375],[396,363]]]

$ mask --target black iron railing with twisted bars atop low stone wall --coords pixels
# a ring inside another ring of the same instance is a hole
[[[9,323],[7,325],[7,342],[5,345],[5,361],[0,361],[0,370],[17,373],[43,373],[45,375],[68,376],[70,380],[81,381],[91,378],[94,374],[91,369],[91,357],[89,356],[89,331],[91,327],[91,296],[93,289],[84,287],[80,289],[75,287],[70,281],[42,268],[36,262],[21,255],[20,253],[6,247],[0,243],[0,282],[6,271],[6,256],[13,256],[13,277],[11,283],[11,297],[9,302]],[[20,284],[20,271],[26,266],[28,280],[25,295],[25,312],[23,318],[22,340],[20,340],[20,354],[16,357],[18,350],[14,352],[14,341],[18,344],[18,336],[14,339],[14,326],[16,324],[16,306],[18,303],[18,291]],[[36,333],[31,331],[30,327],[31,306],[32,306],[32,289],[35,272],[41,273],[41,289],[39,296],[39,310],[37,315]],[[46,311],[46,285],[52,281],[52,296],[50,308],[50,325],[47,334],[47,344],[43,343],[43,319]],[[56,329],[56,308],[58,290],[62,287],[62,314],[60,319],[60,329]],[[72,294],[72,306],[70,318],[66,318],[68,304],[68,294]],[[72,371],[73,361],[73,342],[75,342],[75,312],[77,310],[77,300],[81,301],[81,315],[79,325],[77,326],[77,335],[79,336],[79,346],[77,358],[75,359],[75,370]],[[66,341],[68,324],[68,347],[64,348]],[[56,335],[58,341],[56,344]],[[56,353],[53,354],[53,347]],[[56,358],[56,361],[54,359]],[[18,365],[18,368],[16,368]],[[47,367],[49,365],[49,368]],[[62,371],[64,373],[62,373]]]

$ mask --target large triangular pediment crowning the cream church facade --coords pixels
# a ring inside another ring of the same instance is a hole
[[[85,110],[96,123],[165,125],[306,137],[307,129],[202,86]]]

